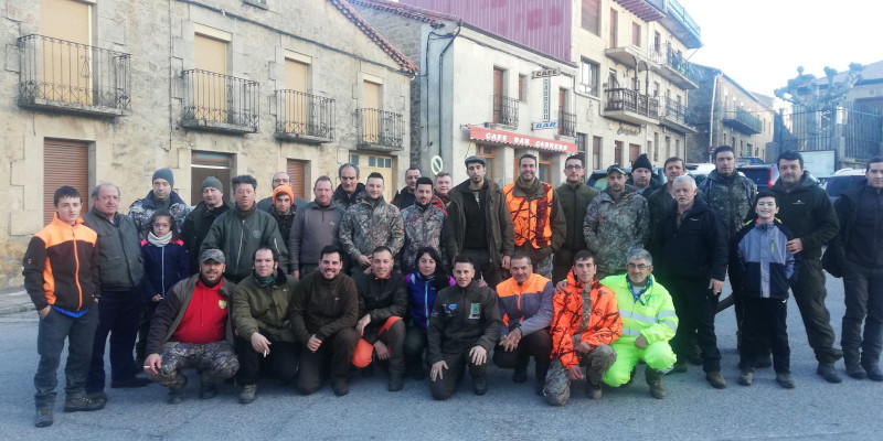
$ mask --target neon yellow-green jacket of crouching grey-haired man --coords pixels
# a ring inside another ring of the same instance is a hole
[[[652,275],[650,281],[651,286],[640,295],[640,302],[635,300],[628,289],[628,275],[610,276],[600,281],[600,284],[616,294],[619,315],[623,318],[623,336],[619,338],[634,341],[638,335],[643,335],[647,344],[653,344],[668,342],[678,331],[678,315],[669,291]]]

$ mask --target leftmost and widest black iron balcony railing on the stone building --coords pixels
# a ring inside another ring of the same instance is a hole
[[[121,52],[26,35],[21,53],[19,105],[123,115],[131,110],[131,56]]]

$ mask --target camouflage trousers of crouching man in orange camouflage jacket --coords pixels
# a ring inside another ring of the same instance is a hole
[[[616,352],[608,345],[595,346],[588,354],[579,356],[579,366],[586,368],[586,387],[600,386],[604,373],[616,361]],[[543,395],[552,406],[564,406],[571,399],[571,379],[561,358],[554,358],[545,376]]]

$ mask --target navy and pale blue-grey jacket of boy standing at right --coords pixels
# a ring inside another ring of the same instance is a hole
[[[752,220],[733,238],[736,271],[742,295],[787,299],[788,289],[797,280],[795,255],[785,250],[792,238],[778,219],[768,224]]]

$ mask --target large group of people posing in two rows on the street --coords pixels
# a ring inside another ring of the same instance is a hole
[[[466,370],[483,395],[490,363],[528,381],[531,358],[534,391],[554,406],[579,380],[599,399],[603,384],[631,383],[640,362],[655,398],[666,396],[664,375],[688,363],[725,388],[714,319],[727,273],[740,384],[772,365],[780,386],[795,387],[789,290],[819,375],[839,383],[843,357],[851,377],[883,380],[883,158],[836,205],[798,152],[778,158],[781,178],[759,193],[735,170],[732,148],[713,158],[701,187],[670,158],[667,183],[653,189],[641,155],[630,184],[611,165],[599,193],[585,183],[582,155],[566,159],[558,187],[539,179],[533,154],[503,187],[474,155],[456,186],[448,173],[430,180],[408,169],[391,203],[383,175],[362,183],[347,163],[336,190],[330,178],[316,180],[309,203],[277,173],[259,202],[249,175],[232,180],[233,203],[209,178],[192,209],[160,169],[129,215],[113,184],[93,191],[83,216],[81,195],[63,186],[55,218],[23,259],[41,318],[36,426],[53,422],[65,340],[64,410],[105,407],[108,335],[110,387],[152,380],[168,387],[170,404],[187,398],[184,368],[199,370],[202,399],[235,378],[240,402],[249,404],[265,374],[304,395],[328,379],[343,396],[352,370],[370,376],[375,366],[391,391],[428,374],[432,396],[448,399]],[[822,265],[847,288],[842,351]]]

